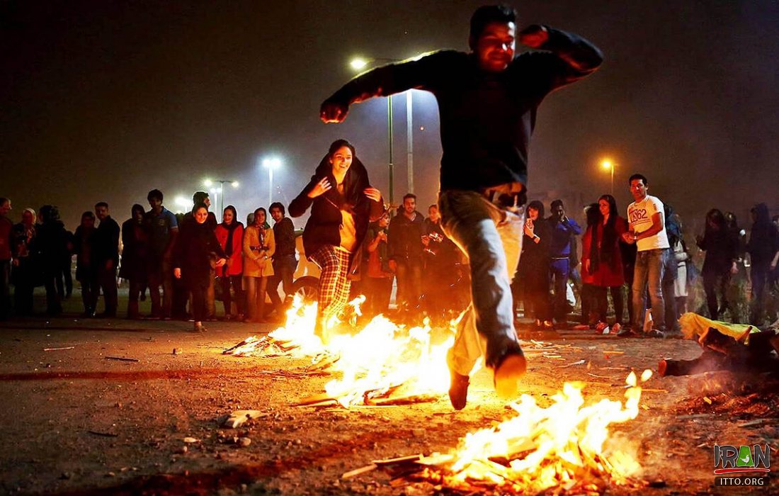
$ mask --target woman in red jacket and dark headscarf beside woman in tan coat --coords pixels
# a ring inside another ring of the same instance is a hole
[[[241,289],[241,275],[243,275],[243,224],[238,221],[238,212],[235,207],[227,205],[222,212],[222,223],[214,229],[219,246],[227,255],[227,263],[217,269],[217,276],[222,285],[222,303],[224,303],[224,318],[229,321],[236,319],[242,321],[244,317],[244,296]],[[232,286],[235,292],[235,310],[233,314],[233,298],[230,293]]]

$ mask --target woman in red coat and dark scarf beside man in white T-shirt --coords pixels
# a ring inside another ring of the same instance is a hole
[[[622,256],[619,250],[622,234],[627,232],[627,221],[617,214],[617,202],[612,195],[603,195],[597,200],[601,220],[587,229],[582,240],[582,266],[584,274],[591,277],[597,302],[598,320],[606,322],[608,292],[614,302],[615,324],[612,331],[622,328]]]

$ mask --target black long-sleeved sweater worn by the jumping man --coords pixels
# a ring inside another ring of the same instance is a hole
[[[589,41],[546,29],[543,51],[519,55],[501,73],[480,70],[472,54],[438,51],[358,76],[328,101],[351,105],[411,88],[428,90],[439,103],[442,191],[527,184],[536,108],[550,91],[587,76],[602,62]]]

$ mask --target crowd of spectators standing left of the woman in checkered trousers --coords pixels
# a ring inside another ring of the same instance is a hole
[[[218,223],[203,191],[193,195],[187,214],[167,210],[160,190],[151,190],[146,199],[150,209],[133,205],[121,229],[108,203],[99,202],[69,232],[52,205],[37,212],[27,208],[13,224],[11,200],[0,198],[0,317],[32,315],[38,286],[46,292],[46,314],[62,314],[62,300],[72,294],[74,257],[83,317],[96,317],[101,294],[99,316],[117,317],[121,280],[128,284],[129,319],[142,318],[139,300],[146,299],[146,292],[151,312],[143,317],[191,317],[197,331],[204,330],[203,321],[215,319],[217,300],[224,303],[226,320],[261,322],[281,314],[284,301],[278,287],[291,296],[298,265],[294,226],[284,205],[270,205],[273,228],[264,208],[249,214],[244,228],[232,205],[224,208]]]

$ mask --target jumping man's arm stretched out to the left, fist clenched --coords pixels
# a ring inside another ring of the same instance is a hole
[[[437,51],[421,58],[377,67],[355,77],[325,100],[319,115],[323,122],[343,122],[349,106],[372,97],[387,97],[411,88],[425,90],[435,84],[442,64],[456,51]]]

